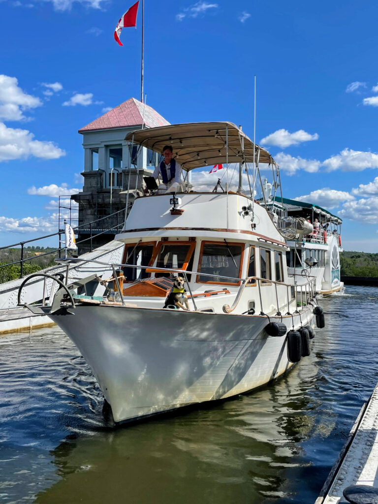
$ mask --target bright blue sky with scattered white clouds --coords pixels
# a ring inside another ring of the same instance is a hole
[[[133,3],[0,0],[0,246],[57,231],[57,197],[83,185],[78,130],[140,98],[141,9],[113,38]],[[283,196],[340,216],[346,250],[378,252],[377,18],[371,0],[145,0],[146,102],[253,138],[256,75]],[[194,178],[215,184],[208,171]]]

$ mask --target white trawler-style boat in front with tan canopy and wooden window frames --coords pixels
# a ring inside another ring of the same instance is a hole
[[[185,180],[174,194],[160,186],[136,198],[116,236],[124,255],[110,281],[57,279],[50,304],[28,307],[48,314],[74,341],[115,422],[229,398],[276,379],[309,354],[314,317],[324,327],[324,315],[316,279],[294,282],[275,214],[253,197],[259,164],[277,170],[274,159],[230,122],[144,129],[125,140],[159,153],[171,145]],[[196,192],[190,170],[218,163],[224,187]],[[249,195],[241,184],[229,190],[229,163],[239,167],[239,180],[254,163],[246,173]],[[80,265],[80,258],[70,261]],[[184,278],[189,310],[164,308],[172,276]]]

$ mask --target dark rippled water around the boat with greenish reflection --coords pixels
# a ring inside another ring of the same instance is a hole
[[[309,357],[255,393],[113,429],[57,328],[0,338],[0,501],[314,502],[378,382],[378,288],[321,300]]]

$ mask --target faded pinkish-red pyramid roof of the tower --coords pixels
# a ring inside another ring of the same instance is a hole
[[[143,122],[143,110],[145,105],[130,98],[124,101],[117,107],[112,108],[98,119],[90,122],[84,128],[79,130],[79,133],[94,130],[108,130],[110,128],[128,128],[131,126],[141,126]],[[144,111],[144,124],[148,128],[155,128],[157,126],[167,126],[169,122],[164,119],[156,110],[146,105]]]

